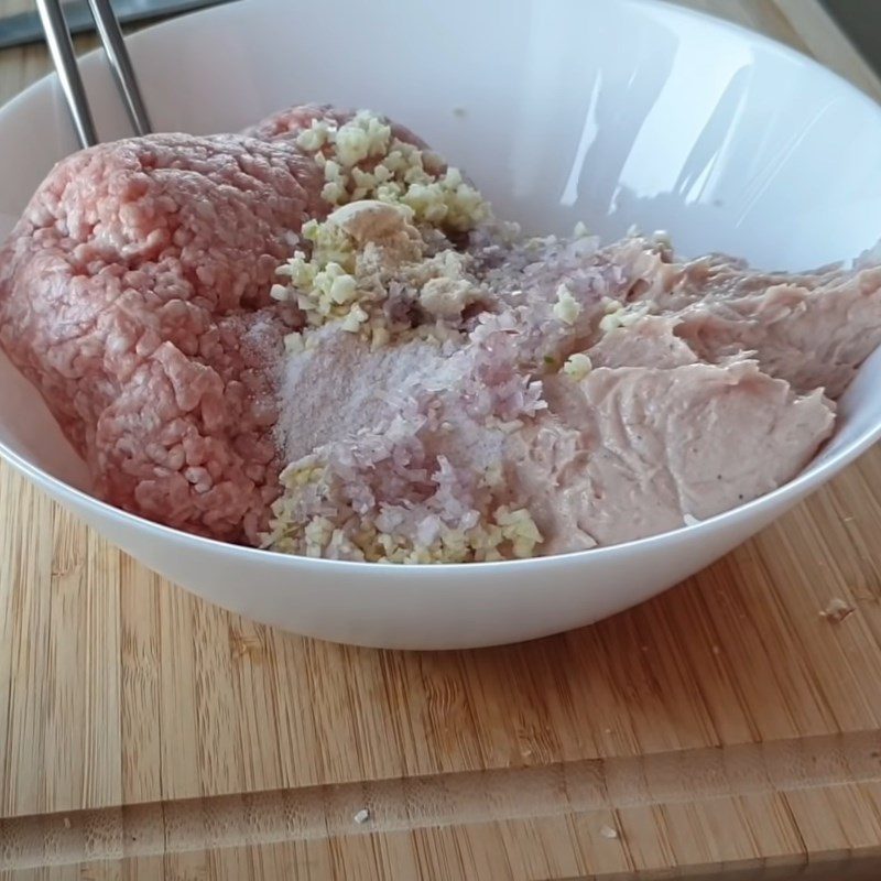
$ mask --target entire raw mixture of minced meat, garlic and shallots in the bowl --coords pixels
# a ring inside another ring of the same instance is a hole
[[[881,267],[527,237],[383,117],[61,162],[0,342],[96,492],[290,554],[439,563],[677,529],[802,470],[881,342]]]

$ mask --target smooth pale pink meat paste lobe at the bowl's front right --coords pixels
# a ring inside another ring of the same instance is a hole
[[[547,413],[511,440],[508,482],[542,530],[544,553],[736,508],[795,477],[831,434],[820,391],[797,395],[754,361],[700,363],[657,326],[621,335],[641,339],[634,360],[644,366],[548,379]]]

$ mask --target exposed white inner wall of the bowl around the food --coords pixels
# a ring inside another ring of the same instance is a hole
[[[232,131],[301,101],[371,107],[467,170],[534,231],[668,230],[694,254],[804,269],[881,237],[881,111],[802,56],[660,2],[246,0],[131,40],[160,130]],[[105,140],[128,127],[84,62]],[[54,79],[0,110],[0,237],[75,149]],[[881,425],[881,358],[815,468]],[[87,488],[33,389],[0,356],[0,445]]]

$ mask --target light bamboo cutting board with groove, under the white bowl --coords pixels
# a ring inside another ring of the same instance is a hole
[[[700,6],[881,94],[813,0]],[[406,654],[200,602],[0,467],[0,874],[877,879],[879,530],[874,450],[631,612]]]

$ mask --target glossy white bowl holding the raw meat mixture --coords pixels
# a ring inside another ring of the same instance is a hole
[[[766,268],[850,258],[881,236],[881,110],[813,62],[652,0],[246,0],[131,40],[157,129],[231,131],[286,105],[371,107],[415,129],[535,230],[670,230],[686,253]],[[99,56],[105,139],[128,133]],[[54,80],[0,111],[0,235],[75,148]],[[151,568],[260,621],[366,645],[524,640],[588,623],[695,573],[881,435],[881,354],[831,443],[785,487],[695,526],[563,557],[399,567],[285,557],[116,510],[0,358],[0,452]]]

